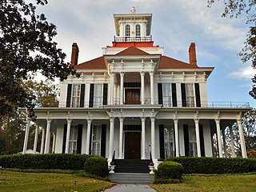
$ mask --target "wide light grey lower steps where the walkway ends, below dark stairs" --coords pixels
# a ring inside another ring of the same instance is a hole
[[[110,181],[118,184],[150,184],[154,180],[154,174],[142,173],[114,173],[110,174]]]

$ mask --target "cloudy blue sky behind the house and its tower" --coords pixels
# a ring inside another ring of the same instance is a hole
[[[78,62],[102,55],[102,47],[114,40],[113,14],[152,13],[154,45],[164,47],[164,54],[188,62],[190,42],[196,43],[198,66],[214,66],[208,78],[209,102],[250,102],[256,100],[248,92],[256,73],[250,63],[238,56],[246,39],[245,18],[222,18],[223,5],[216,2],[211,8],[206,0],[54,0],[39,6],[49,22],[58,26],[54,39],[70,62],[71,45],[79,46]]]

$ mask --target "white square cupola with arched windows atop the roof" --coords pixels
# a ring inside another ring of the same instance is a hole
[[[151,42],[151,22],[152,14],[137,14],[134,6],[130,14],[114,14],[114,42]]]

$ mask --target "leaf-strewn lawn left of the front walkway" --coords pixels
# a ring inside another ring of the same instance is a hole
[[[0,191],[86,191],[93,192],[112,186],[94,178],[75,174],[42,174],[0,171]]]

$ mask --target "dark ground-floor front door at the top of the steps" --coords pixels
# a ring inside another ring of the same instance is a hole
[[[126,132],[125,158],[141,158],[141,132]]]

